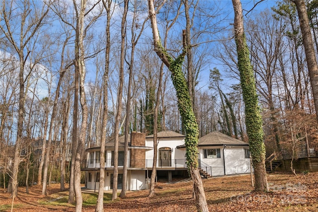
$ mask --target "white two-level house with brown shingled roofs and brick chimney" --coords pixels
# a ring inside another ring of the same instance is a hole
[[[188,176],[185,163],[184,135],[172,131],[158,133],[157,175],[172,180],[174,175]],[[132,132],[129,135],[127,190],[148,188],[153,167],[154,135]],[[199,140],[199,166],[202,176],[217,176],[250,172],[248,144],[222,133],[211,133]],[[119,138],[118,189],[122,188],[124,136]],[[99,187],[100,147],[86,149],[89,159],[82,163],[87,171],[88,189]],[[114,141],[105,144],[105,187],[112,189],[114,169]]]

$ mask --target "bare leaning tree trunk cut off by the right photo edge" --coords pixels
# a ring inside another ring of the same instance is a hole
[[[315,54],[315,47],[313,37],[309,25],[307,9],[304,0],[293,0],[296,4],[300,28],[302,30],[303,43],[306,54],[307,67],[309,72],[310,81],[312,84],[312,91],[314,96],[314,104],[316,109],[316,117],[318,121],[318,65]]]

